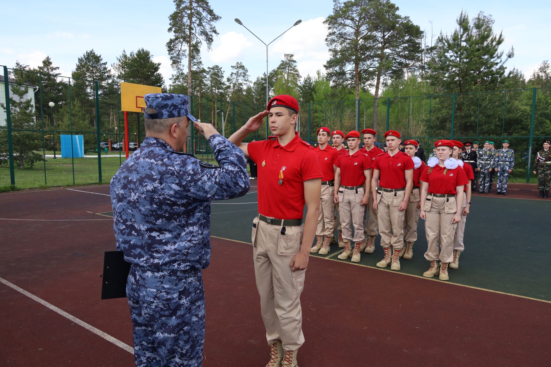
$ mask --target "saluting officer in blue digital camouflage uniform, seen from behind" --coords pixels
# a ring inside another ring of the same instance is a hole
[[[210,261],[210,200],[250,187],[243,152],[188,111],[187,96],[147,94],[145,140],[111,179],[117,250],[132,263],[126,293],[136,366],[201,366]],[[219,166],[181,153],[193,122]]]

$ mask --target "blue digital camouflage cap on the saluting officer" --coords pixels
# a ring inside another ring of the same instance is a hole
[[[174,93],[150,93],[143,96],[145,108],[153,108],[156,113],[144,112],[145,118],[171,118],[186,116],[191,121],[197,119],[191,116],[188,105],[190,101],[186,95]]]

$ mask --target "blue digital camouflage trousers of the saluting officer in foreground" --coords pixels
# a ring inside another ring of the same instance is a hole
[[[201,366],[205,299],[201,270],[157,271],[132,265],[126,294],[136,366]]]

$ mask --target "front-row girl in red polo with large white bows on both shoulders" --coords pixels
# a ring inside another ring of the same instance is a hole
[[[453,237],[457,223],[461,221],[462,200],[457,199],[457,193],[463,193],[468,180],[457,160],[451,157],[453,143],[450,140],[439,140],[435,146],[436,157],[429,158],[428,167],[420,177],[420,217],[425,220],[428,244],[425,259],[430,261],[430,268],[423,276],[432,278],[440,272],[440,280],[449,280],[447,269],[453,261]]]

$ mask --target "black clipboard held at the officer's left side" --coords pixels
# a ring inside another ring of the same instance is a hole
[[[101,299],[125,298],[130,263],[122,251],[105,251],[104,273],[101,275]]]

